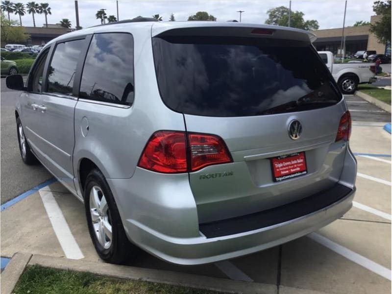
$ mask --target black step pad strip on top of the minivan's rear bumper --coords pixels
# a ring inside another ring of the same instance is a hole
[[[207,238],[214,238],[261,229],[321,210],[339,201],[351,191],[352,189],[346,186],[335,184],[328,190],[265,211],[221,221],[200,223],[199,230]]]

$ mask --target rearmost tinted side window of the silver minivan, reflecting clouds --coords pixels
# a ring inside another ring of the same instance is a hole
[[[84,63],[79,97],[131,105],[133,96],[132,35],[95,34]]]

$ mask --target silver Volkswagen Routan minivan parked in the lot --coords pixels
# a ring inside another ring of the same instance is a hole
[[[37,159],[84,202],[99,256],[181,265],[276,246],[352,206],[350,113],[307,31],[153,22],[62,35],[15,110]]]

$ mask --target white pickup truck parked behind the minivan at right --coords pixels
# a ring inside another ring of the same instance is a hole
[[[318,51],[343,94],[354,94],[358,84],[377,81],[375,63],[334,63],[330,51]]]

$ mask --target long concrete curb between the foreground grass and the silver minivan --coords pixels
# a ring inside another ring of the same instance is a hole
[[[278,288],[276,285],[272,284],[233,281],[229,279],[207,277],[168,270],[153,270],[119,266],[107,263],[66,259],[64,257],[51,257],[40,254],[34,254],[31,257],[28,265],[39,265],[42,267],[56,268],[60,270],[87,271],[97,275],[113,278],[142,280],[147,282],[170,284],[174,286],[214,290],[225,293],[276,294]]]

